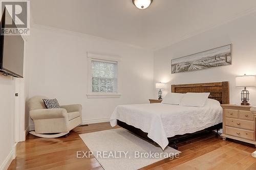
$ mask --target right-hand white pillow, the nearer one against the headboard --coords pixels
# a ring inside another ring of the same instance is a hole
[[[181,101],[181,106],[203,107],[210,93],[186,93]]]

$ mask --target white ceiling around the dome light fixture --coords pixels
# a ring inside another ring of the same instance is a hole
[[[33,23],[150,49],[173,44],[256,11],[255,0],[33,0]]]

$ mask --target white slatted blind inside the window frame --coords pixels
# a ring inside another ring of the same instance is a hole
[[[92,92],[117,93],[117,62],[91,61]]]

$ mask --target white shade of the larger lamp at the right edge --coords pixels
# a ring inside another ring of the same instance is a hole
[[[239,76],[236,77],[237,87],[256,87],[255,76]]]

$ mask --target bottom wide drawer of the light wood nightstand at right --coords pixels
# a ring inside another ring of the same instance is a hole
[[[254,131],[248,131],[248,130],[231,128],[231,127],[226,127],[226,134],[253,140],[253,141],[254,141],[254,136],[255,136]]]

